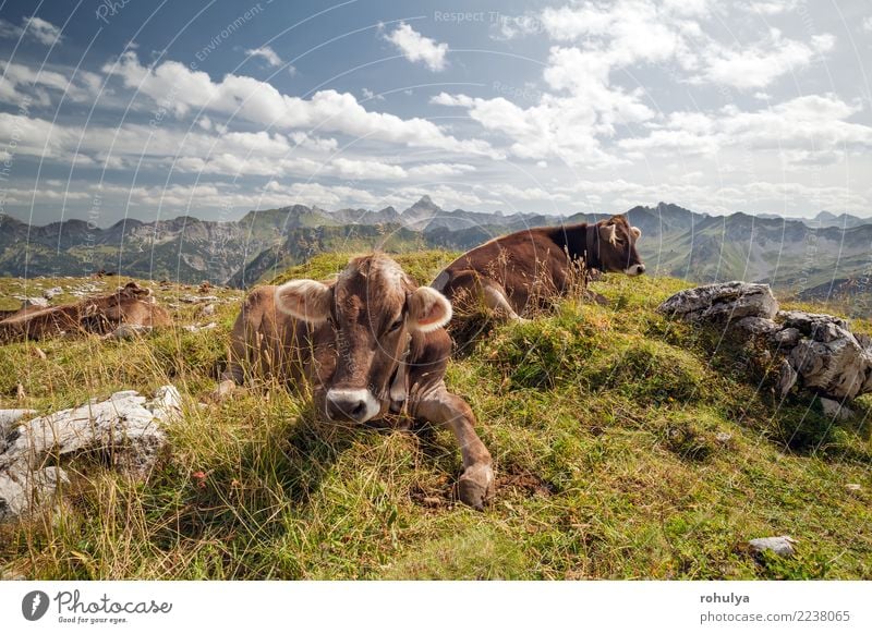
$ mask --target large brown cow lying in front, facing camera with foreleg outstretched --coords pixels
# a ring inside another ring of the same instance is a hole
[[[491,454],[470,406],[445,386],[451,305],[417,288],[389,257],[359,257],[329,282],[293,280],[252,291],[233,326],[219,398],[258,376],[313,388],[318,412],[355,424],[388,412],[451,428],[463,456],[460,499],[482,509],[494,489]]]

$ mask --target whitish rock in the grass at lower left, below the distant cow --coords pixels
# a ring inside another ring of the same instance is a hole
[[[116,392],[106,401],[39,416],[15,427],[0,452],[0,521],[26,515],[55,499],[66,481],[61,467],[44,467],[81,452],[102,453],[131,477],[150,473],[166,444],[162,424],[181,415],[172,386],[147,400],[138,392]]]

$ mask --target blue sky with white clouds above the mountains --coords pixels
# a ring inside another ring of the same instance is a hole
[[[0,216],[872,217],[868,0],[0,2]]]

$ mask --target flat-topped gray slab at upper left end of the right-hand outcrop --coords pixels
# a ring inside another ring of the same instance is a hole
[[[768,284],[723,282],[680,291],[657,310],[688,321],[727,324],[743,317],[771,319],[778,313],[778,302]]]

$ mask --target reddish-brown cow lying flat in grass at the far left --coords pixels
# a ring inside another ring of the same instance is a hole
[[[155,304],[150,289],[129,282],[110,295],[64,306],[27,306],[16,310],[0,320],[0,342],[85,332],[106,334],[122,324],[150,328],[170,322],[169,314]]]

